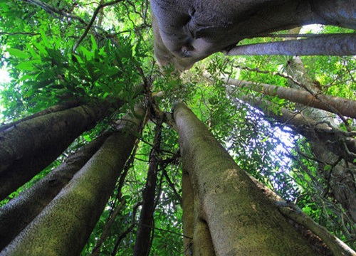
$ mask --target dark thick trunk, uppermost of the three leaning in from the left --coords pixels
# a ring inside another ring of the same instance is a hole
[[[0,200],[51,164],[73,140],[122,102],[90,105],[48,113],[0,132]]]

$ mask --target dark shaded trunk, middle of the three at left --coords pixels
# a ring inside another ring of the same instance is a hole
[[[68,156],[61,166],[0,208],[0,250],[57,196],[63,186],[66,186],[73,175],[95,154],[108,135],[95,139]]]

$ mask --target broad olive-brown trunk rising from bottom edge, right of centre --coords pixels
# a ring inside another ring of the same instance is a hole
[[[315,255],[187,106],[174,119],[216,255]]]

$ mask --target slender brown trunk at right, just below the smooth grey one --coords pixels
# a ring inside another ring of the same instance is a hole
[[[276,85],[267,85],[260,82],[248,82],[232,78],[229,78],[229,80],[226,80],[226,82],[229,85],[248,88],[256,92],[261,92],[264,95],[278,96],[281,99],[300,103],[304,106],[316,107],[320,110],[325,110],[328,112],[333,112],[333,110],[337,110],[337,112],[342,115],[356,118],[355,100],[347,100],[342,97],[323,95],[319,92],[315,92],[313,94],[305,90],[298,90],[294,88],[281,87]]]

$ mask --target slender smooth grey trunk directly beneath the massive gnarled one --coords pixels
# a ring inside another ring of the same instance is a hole
[[[236,46],[227,55],[355,55],[356,34]]]

